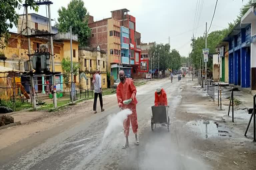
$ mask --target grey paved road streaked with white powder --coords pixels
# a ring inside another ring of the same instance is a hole
[[[133,144],[130,133],[130,148],[121,149],[124,144],[122,129],[102,143],[107,126],[107,117],[117,113],[117,104],[106,108],[104,113],[95,114],[86,120],[73,120],[74,125],[44,131],[0,151],[1,170],[91,170],[91,169],[206,169],[204,165],[189,156],[189,147],[180,144],[182,133],[175,122],[176,107],[185,95],[182,89],[187,79],[180,82],[175,78],[149,82],[137,89],[137,113],[140,145]],[[163,87],[171,106],[171,130],[157,126],[150,127],[151,106],[154,91]],[[72,122],[72,121],[71,121]],[[38,140],[40,139],[41,140]],[[180,138],[180,137],[179,137]],[[28,143],[31,145],[28,146]],[[24,146],[24,147],[23,147]],[[26,146],[26,147],[25,147]],[[11,150],[15,150],[11,152]]]

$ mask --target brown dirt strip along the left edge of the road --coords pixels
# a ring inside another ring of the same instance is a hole
[[[116,104],[115,95],[103,96],[104,108],[108,109]],[[99,101],[97,108],[100,109]],[[78,103],[76,106],[66,106],[56,112],[35,111],[21,112],[12,115],[15,121],[21,121],[21,125],[0,130],[0,149],[10,146],[31,135],[40,133],[72,119],[86,119],[93,115],[93,99]],[[100,112],[98,113],[100,114]]]

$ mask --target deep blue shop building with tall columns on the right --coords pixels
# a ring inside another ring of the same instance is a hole
[[[229,84],[250,88],[251,25],[237,24],[228,37]]]

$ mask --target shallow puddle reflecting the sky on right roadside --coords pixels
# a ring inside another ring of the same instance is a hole
[[[200,121],[191,121],[185,125],[185,128],[193,131],[203,138],[211,138],[216,136],[226,136],[231,137],[230,132],[219,125],[217,122],[208,121],[208,120],[200,120]]]

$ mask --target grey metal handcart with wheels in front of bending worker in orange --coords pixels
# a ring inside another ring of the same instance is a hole
[[[154,124],[166,124],[170,131],[169,106],[152,106],[151,130],[153,131]]]

